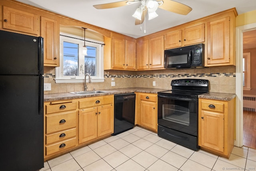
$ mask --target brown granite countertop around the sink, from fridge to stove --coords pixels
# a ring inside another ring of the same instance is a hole
[[[118,89],[102,89],[100,91],[106,91],[106,93],[96,93],[96,94],[86,94],[86,95],[76,95],[72,93],[54,93],[54,94],[44,94],[44,101],[56,101],[56,100],[69,100],[69,99],[80,99],[85,97],[96,97],[102,95],[112,95],[112,94],[122,94],[122,93],[158,93],[159,91],[166,91],[168,89],[156,89],[156,88],[118,88]]]

